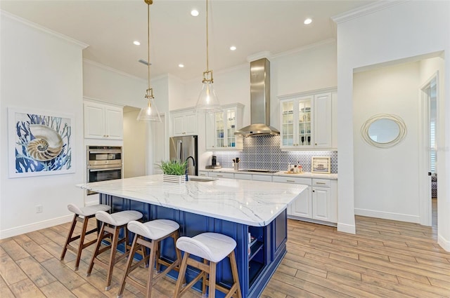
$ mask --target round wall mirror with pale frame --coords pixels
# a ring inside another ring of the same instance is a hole
[[[378,114],[368,118],[361,127],[361,136],[378,148],[390,148],[406,137],[406,125],[399,116]]]

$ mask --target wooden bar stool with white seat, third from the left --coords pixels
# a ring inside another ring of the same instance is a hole
[[[165,276],[172,269],[176,269],[176,266],[181,264],[181,252],[176,248],[176,240],[178,239],[178,229],[179,224],[169,220],[169,219],[155,219],[150,222],[141,223],[141,222],[129,222],[128,223],[129,231],[136,233],[133,240],[133,245],[131,245],[130,257],[127,262],[127,269],[125,270],[124,277],[122,278],[122,283],[120,285],[119,294],[117,294],[117,298],[122,297],[124,292],[125,283],[130,283],[141,292],[146,293],[146,297],[150,298],[152,293],[153,285],[162,277]],[[165,262],[165,260],[160,259],[160,245],[161,241],[165,238],[173,238],[174,240],[174,248],[176,251],[176,260],[171,264]],[[150,239],[150,241],[146,240]],[[150,255],[146,255],[143,257],[141,261],[137,262],[133,265],[133,257],[139,248],[150,248]],[[134,279],[130,276],[131,271],[141,266],[141,264],[148,262],[148,280],[147,285],[143,285],[138,280]],[[153,276],[154,265],[156,262],[156,269],[160,271],[160,265],[165,265],[167,268],[165,271],[158,273]],[[179,268],[179,267],[178,267]]]

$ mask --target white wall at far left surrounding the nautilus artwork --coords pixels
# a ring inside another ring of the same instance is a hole
[[[1,13],[0,238],[70,220],[68,203],[82,205],[82,45]],[[73,114],[75,173],[8,177],[7,108]],[[36,213],[36,205],[44,212]]]

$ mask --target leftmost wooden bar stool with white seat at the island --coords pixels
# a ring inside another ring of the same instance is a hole
[[[82,250],[84,250],[84,248],[87,248],[89,245],[96,243],[96,241],[97,241],[97,239],[94,239],[92,241],[84,243],[84,237],[86,235],[89,235],[90,233],[94,233],[95,231],[97,231],[97,225],[94,229],[91,229],[90,231],[86,231],[89,219],[96,216],[97,211],[109,211],[110,209],[111,208],[108,205],[91,205],[91,206],[86,206],[83,208],[78,208],[77,205],[74,205],[74,204],[68,205],[68,210],[70,212],[72,212],[74,215],[73,215],[73,219],[72,219],[72,225],[70,226],[70,230],[68,233],[68,238],[65,241],[63,252],[61,253],[61,258],[60,258],[61,261],[64,259],[65,253],[68,250],[75,252],[75,254],[77,255],[77,260],[75,262],[75,271],[78,270],[79,259],[82,256]],[[81,222],[83,226],[82,226],[82,231],[79,233],[79,235],[74,237],[73,232],[75,231],[75,226],[77,226],[77,222]],[[74,246],[70,245],[70,243],[72,243],[73,241],[75,241],[77,239],[79,239],[79,244],[78,244],[78,247],[75,248]]]

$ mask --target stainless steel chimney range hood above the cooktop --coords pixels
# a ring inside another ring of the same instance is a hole
[[[235,135],[279,135],[270,126],[270,62],[266,58],[250,62],[250,126]]]

